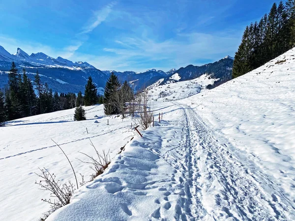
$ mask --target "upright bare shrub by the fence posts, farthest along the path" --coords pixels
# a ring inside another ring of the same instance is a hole
[[[145,89],[142,93],[137,94],[137,111],[138,117],[134,118],[135,123],[140,125],[143,130],[148,129],[152,123],[153,109],[150,108],[150,99],[148,90]],[[148,106],[149,105],[149,106]]]

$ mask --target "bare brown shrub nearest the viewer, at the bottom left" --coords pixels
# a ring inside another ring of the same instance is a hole
[[[60,207],[69,204],[75,189],[71,181],[62,185],[59,184],[59,180],[56,180],[54,173],[51,174],[46,168],[40,169],[40,171],[41,174],[35,174],[41,178],[41,180],[39,182],[35,181],[35,184],[40,186],[40,190],[51,192],[50,196],[54,197],[53,201],[51,199],[42,199],[42,201],[49,203],[51,208],[44,214],[44,218],[40,218],[40,221],[43,221]]]

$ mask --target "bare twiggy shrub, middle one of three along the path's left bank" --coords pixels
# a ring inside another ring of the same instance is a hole
[[[92,175],[90,175],[90,177],[91,177],[90,181],[92,181],[92,180],[94,180],[95,177],[102,174],[106,170],[106,168],[111,163],[111,157],[109,155],[110,150],[108,151],[108,153],[106,153],[105,150],[103,150],[102,155],[101,155],[98,153],[97,149],[95,148],[95,146],[93,145],[91,140],[90,140],[90,145],[94,148],[98,159],[95,159],[94,157],[91,157],[86,153],[79,152],[79,153],[82,153],[85,156],[87,156],[89,158],[89,161],[85,162],[80,159],[78,159],[78,160],[81,161],[82,163],[91,165],[90,168],[94,171],[94,173]]]

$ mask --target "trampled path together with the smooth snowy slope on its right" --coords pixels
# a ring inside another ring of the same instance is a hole
[[[49,220],[294,220],[294,55],[154,102],[164,121]]]

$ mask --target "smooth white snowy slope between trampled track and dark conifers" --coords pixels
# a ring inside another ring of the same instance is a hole
[[[183,100],[250,160],[295,208],[295,49]],[[258,177],[255,176],[256,179]],[[269,190],[270,192],[272,190]],[[293,217],[294,218],[294,217]]]

